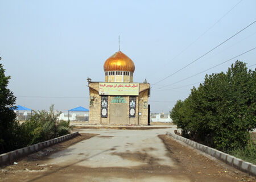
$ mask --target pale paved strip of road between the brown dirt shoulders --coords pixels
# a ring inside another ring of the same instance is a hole
[[[178,166],[158,138],[170,130],[81,130],[98,135],[49,156],[45,164],[57,170],[36,180],[191,181],[172,174]]]

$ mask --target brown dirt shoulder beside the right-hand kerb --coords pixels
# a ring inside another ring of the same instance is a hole
[[[255,177],[229,167],[219,160],[207,156],[176,142],[170,136],[158,135],[166,146],[168,156],[175,159],[184,173],[192,175],[197,181],[256,181]]]

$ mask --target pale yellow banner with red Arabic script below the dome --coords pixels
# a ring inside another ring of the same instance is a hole
[[[138,96],[139,84],[138,83],[106,83],[100,82],[99,85],[100,95],[110,96]]]

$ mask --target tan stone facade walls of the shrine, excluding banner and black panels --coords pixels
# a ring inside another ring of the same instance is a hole
[[[100,82],[89,82],[89,123],[92,125],[147,125],[150,84],[139,83],[138,96],[121,96],[123,103],[113,103],[117,96],[108,97],[108,117],[101,117]],[[130,97],[136,98],[135,117],[129,117]]]

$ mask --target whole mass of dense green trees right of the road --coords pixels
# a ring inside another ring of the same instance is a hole
[[[236,61],[226,73],[206,75],[177,101],[170,115],[184,136],[222,151],[245,147],[256,127],[256,74]]]

